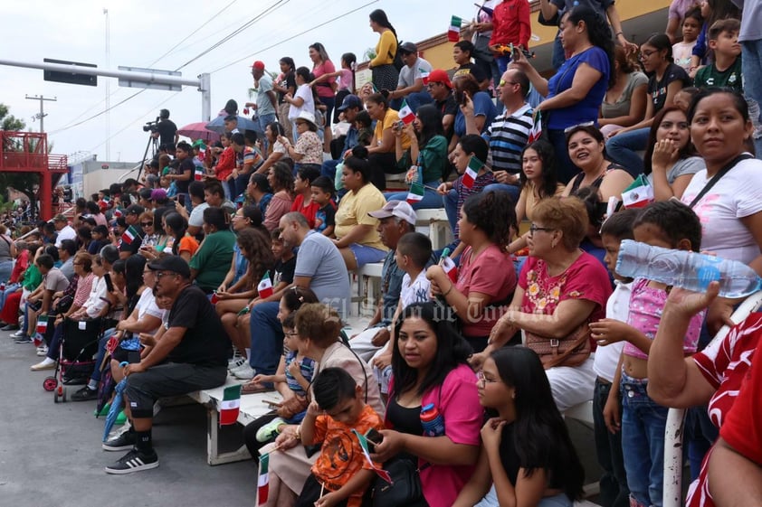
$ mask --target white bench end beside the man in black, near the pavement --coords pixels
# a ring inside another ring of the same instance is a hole
[[[220,437],[227,427],[220,427],[220,403],[223,399],[224,389],[235,384],[243,383],[241,380],[228,376],[224,385],[211,390],[197,390],[188,393],[188,397],[201,403],[206,408],[206,463],[209,465],[223,465],[235,461],[243,461],[252,457],[246,446],[239,446],[233,451],[221,451]],[[261,418],[271,411],[270,405],[264,403],[265,399],[280,401],[281,394],[277,391],[263,392],[258,394],[246,394],[241,396],[241,408],[238,413],[238,423],[246,426],[256,418]],[[238,425],[235,428],[239,433]]]

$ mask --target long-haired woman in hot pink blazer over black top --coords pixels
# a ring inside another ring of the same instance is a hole
[[[423,503],[452,505],[474,471],[482,408],[468,365],[471,347],[436,303],[405,308],[395,325],[386,427],[376,460],[397,457],[420,469]],[[443,428],[424,433],[424,409]],[[425,466],[424,466],[425,464]]]

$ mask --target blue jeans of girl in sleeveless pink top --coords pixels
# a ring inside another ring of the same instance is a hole
[[[668,408],[648,397],[647,379],[622,372],[622,452],[630,496],[639,505],[662,507],[664,429]]]

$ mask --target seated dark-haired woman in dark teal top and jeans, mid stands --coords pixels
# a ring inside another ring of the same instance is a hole
[[[415,111],[413,122],[404,130],[410,139],[410,150],[405,151],[402,147],[403,129],[396,129],[397,165],[410,167],[408,183],[424,185],[424,198],[414,202],[413,209],[441,208],[442,196],[435,189],[442,183],[447,167],[447,139],[444,137],[442,114],[432,104],[421,106]],[[388,192],[385,197],[386,201],[405,201],[407,192]]]

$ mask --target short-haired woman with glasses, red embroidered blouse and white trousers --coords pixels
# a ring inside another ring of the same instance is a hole
[[[475,367],[518,330],[538,352],[561,411],[593,398],[595,372],[587,324],[605,316],[611,282],[603,265],[579,249],[587,232],[585,204],[575,198],[545,199],[529,227],[529,258],[508,313],[500,317]]]

